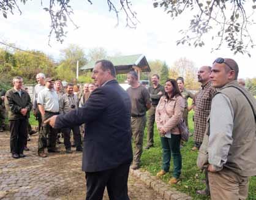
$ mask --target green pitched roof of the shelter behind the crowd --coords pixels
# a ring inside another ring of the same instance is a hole
[[[119,71],[119,73],[126,73],[126,71],[130,70],[133,65],[136,65],[138,67],[143,66],[143,72],[151,72],[148,61],[146,61],[146,57],[143,54],[107,57],[107,59],[111,61],[113,65],[115,65],[116,70]],[[96,61],[90,61],[88,64],[81,67],[80,70],[92,70],[95,62]]]

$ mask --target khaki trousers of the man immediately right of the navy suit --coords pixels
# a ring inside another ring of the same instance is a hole
[[[134,140],[134,165],[140,165],[140,157],[143,147],[143,135],[146,126],[146,116],[132,117],[130,120],[132,127],[132,139]]]

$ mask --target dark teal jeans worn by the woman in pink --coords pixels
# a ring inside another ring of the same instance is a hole
[[[160,137],[162,143],[162,169],[168,172],[171,156],[173,157],[173,174],[176,179],[181,175],[182,158],[179,144],[181,135],[171,134],[171,138]]]

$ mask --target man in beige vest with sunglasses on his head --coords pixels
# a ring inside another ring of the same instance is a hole
[[[211,70],[218,88],[209,116],[208,176],[212,200],[246,199],[256,175],[255,98],[237,81],[238,64],[217,58]]]

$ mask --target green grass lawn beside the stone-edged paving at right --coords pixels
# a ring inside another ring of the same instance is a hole
[[[189,113],[189,130],[194,131],[194,124],[192,121],[193,112]],[[146,146],[146,129],[143,144]],[[161,169],[162,164],[162,149],[160,143],[160,137],[156,129],[156,124],[154,126],[154,148],[149,150],[143,150],[141,157],[141,170],[149,171],[153,176],[156,176],[157,172]],[[193,199],[209,199],[195,194],[196,190],[203,190],[205,188],[205,183],[202,182],[204,179],[204,173],[197,168],[197,152],[190,150],[193,147],[193,138],[190,137],[186,145],[181,149],[181,154],[183,157],[183,168],[181,172],[181,181],[174,185],[177,190],[192,196]],[[173,171],[173,163],[171,158],[171,168],[170,172],[165,174],[161,179],[168,183],[171,177],[171,172]],[[249,196],[248,199],[256,199],[256,177],[250,178]]]

